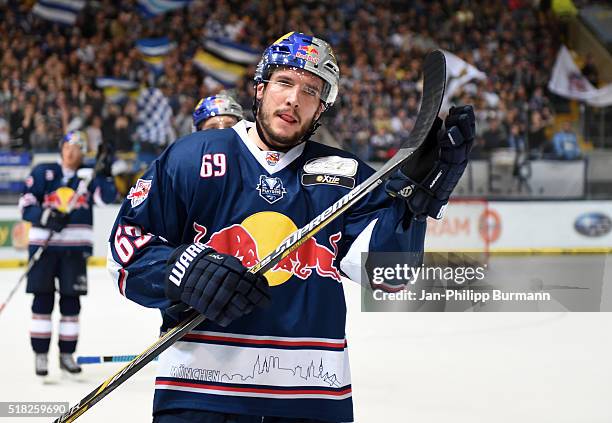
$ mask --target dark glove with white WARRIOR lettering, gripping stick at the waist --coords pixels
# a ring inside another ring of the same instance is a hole
[[[200,243],[182,245],[167,261],[166,296],[182,301],[208,320],[227,326],[270,303],[268,281],[249,273],[236,257]]]

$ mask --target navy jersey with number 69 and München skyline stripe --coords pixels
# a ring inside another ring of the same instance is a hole
[[[166,259],[179,245],[201,242],[252,266],[373,173],[312,141],[261,151],[252,125],[178,140],[131,188],[109,239],[121,294],[163,311]],[[154,411],[352,421],[341,272],[358,281],[364,251],[422,251],[425,224],[406,228],[403,210],[374,190],[266,274],[269,308],[225,328],[204,322],[162,353]]]

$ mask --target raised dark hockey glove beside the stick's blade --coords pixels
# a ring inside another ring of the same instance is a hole
[[[423,145],[389,178],[387,193],[403,197],[418,220],[441,219],[467,166],[475,132],[472,106],[452,107],[444,125],[436,118]]]

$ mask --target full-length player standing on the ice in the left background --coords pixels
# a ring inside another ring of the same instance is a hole
[[[38,248],[44,248],[28,273],[26,288],[34,294],[30,339],[39,376],[48,374],[47,353],[56,289],[60,294],[61,313],[60,368],[69,373],[81,371],[72,354],[79,336],[79,296],[87,293],[86,261],[91,255],[93,240],[92,205],[110,203],[117,195],[110,177],[110,162],[101,163],[95,175],[93,169],[82,169],[86,148],[83,132],[66,134],[60,141],[60,162],[34,167],[19,199],[23,219],[32,222],[30,257]],[[79,177],[82,174],[84,179]],[[53,236],[49,238],[51,232]]]

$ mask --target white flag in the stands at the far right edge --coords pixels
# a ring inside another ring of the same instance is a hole
[[[584,101],[591,106],[612,105],[612,84],[595,88],[580,72],[565,46],[561,46],[557,54],[548,89],[561,97]]]

